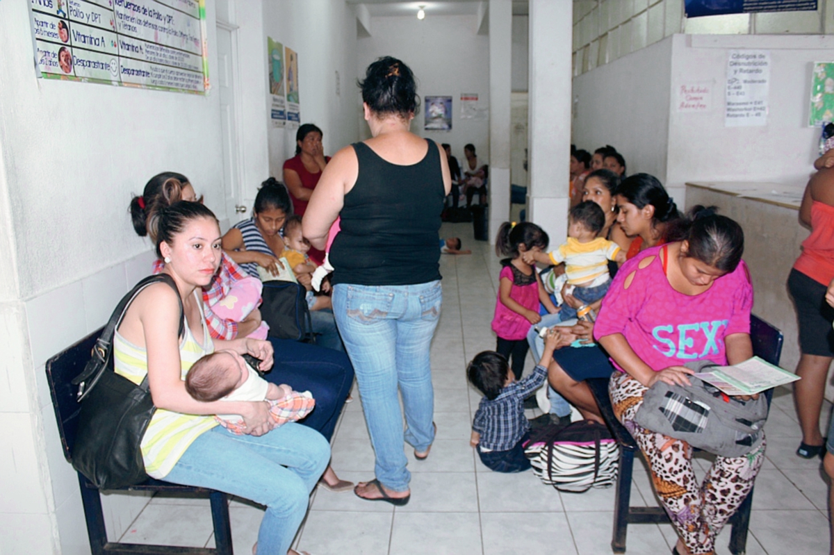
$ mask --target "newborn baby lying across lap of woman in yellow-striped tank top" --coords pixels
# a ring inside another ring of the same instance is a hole
[[[269,401],[269,414],[279,426],[304,418],[315,407],[309,391],[298,393],[286,384],[267,382],[234,351],[217,351],[193,363],[185,377],[185,390],[203,402]],[[239,414],[218,414],[214,418],[229,432],[247,433]]]

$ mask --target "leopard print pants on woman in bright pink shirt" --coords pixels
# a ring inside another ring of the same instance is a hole
[[[651,432],[634,421],[646,389],[628,374],[615,372],[609,385],[614,413],[649,462],[655,491],[686,547],[693,554],[713,552],[721,528],[753,488],[765,460],[765,441],[743,457],[716,457],[699,484],[689,443]]]

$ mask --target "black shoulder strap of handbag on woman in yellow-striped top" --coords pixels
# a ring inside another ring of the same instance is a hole
[[[104,368],[107,367],[108,361],[113,354],[113,335],[115,334],[118,325],[122,323],[124,313],[128,311],[128,307],[131,303],[133,303],[133,299],[136,298],[144,288],[147,288],[148,285],[152,285],[153,283],[165,283],[173,288],[174,292],[177,293],[177,301],[179,304],[178,337],[183,337],[183,333],[185,333],[183,299],[179,296],[179,289],[177,288],[177,284],[173,281],[173,278],[166,273],[159,273],[155,276],[143,278],[142,281],[137,283],[136,286],[131,289],[121,301],[118,302],[118,305],[116,305],[116,308],[113,310],[113,314],[110,315],[108,323],[104,325],[101,335],[99,335],[98,339],[96,339],[96,344],[93,346],[92,353],[93,359],[96,363],[88,363],[87,366],[84,367],[83,373],[80,373],[78,376],[73,378],[72,384],[78,386],[78,402],[80,402],[87,395],[87,393],[93,389],[93,386],[95,386],[98,382],[98,378],[101,377],[101,373],[103,373]],[[93,379],[90,380],[90,378]],[[147,390],[147,376],[143,380],[141,387]]]

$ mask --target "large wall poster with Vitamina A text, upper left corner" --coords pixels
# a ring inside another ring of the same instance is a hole
[[[38,77],[208,91],[205,0],[29,0]]]

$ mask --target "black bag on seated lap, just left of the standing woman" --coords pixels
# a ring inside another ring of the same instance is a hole
[[[304,286],[294,282],[264,282],[261,318],[269,324],[269,335],[279,339],[314,343],[313,320],[304,298]]]

